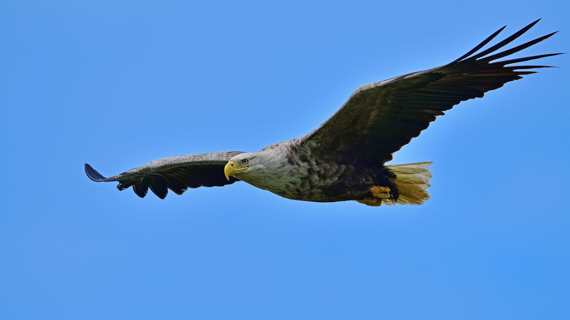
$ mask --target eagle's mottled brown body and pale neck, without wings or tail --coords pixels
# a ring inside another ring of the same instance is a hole
[[[364,198],[374,185],[392,186],[384,166],[361,161],[326,160],[311,152],[312,144],[300,139],[265,147],[258,153],[241,157],[260,157],[271,163],[271,178],[265,175],[242,177],[255,187],[283,198],[312,202],[337,202]],[[255,158],[254,158],[255,159]]]

